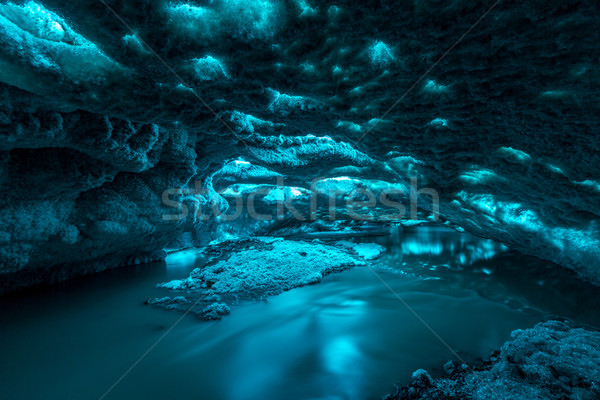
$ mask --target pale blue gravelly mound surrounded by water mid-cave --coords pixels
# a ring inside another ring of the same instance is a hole
[[[184,279],[157,287],[177,293],[151,298],[148,304],[169,310],[188,311],[201,319],[219,319],[239,300],[259,300],[284,291],[320,282],[328,274],[366,265],[365,259],[381,246],[326,245],[318,242],[257,237],[246,241],[211,244],[205,252],[228,251],[224,259],[194,269]],[[357,255],[358,254],[358,255]]]

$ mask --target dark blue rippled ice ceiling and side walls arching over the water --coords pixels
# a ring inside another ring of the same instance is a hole
[[[223,209],[278,176],[416,176],[443,219],[598,281],[596,4],[3,2],[4,287],[264,232],[162,196]]]

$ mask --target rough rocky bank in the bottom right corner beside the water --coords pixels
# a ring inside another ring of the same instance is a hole
[[[474,367],[449,362],[447,378],[424,370],[386,397],[396,399],[592,400],[600,397],[600,333],[548,321],[517,330],[499,354]]]

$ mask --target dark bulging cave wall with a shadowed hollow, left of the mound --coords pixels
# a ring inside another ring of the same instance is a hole
[[[181,229],[162,221],[164,185],[196,174],[185,131],[85,112],[7,118],[3,273],[27,284],[163,257]]]

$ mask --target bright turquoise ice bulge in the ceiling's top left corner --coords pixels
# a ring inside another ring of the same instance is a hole
[[[54,75],[73,86],[97,86],[122,72],[93,42],[34,1],[0,5],[0,37],[0,81],[29,92],[47,95],[55,90],[52,83],[59,83],[37,81],[38,74]]]

